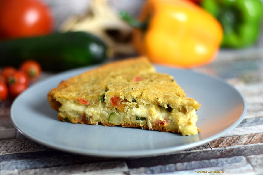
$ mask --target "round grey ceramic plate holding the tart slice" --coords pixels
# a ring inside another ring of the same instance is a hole
[[[47,101],[48,92],[62,80],[93,67],[67,71],[28,88],[13,102],[11,120],[25,136],[52,148],[84,155],[132,157],[169,153],[207,143],[230,131],[243,119],[245,100],[231,85],[192,71],[155,67],[158,72],[174,76],[186,96],[202,105],[197,111],[201,133],[182,136],[139,128],[58,121],[58,112],[50,108]]]

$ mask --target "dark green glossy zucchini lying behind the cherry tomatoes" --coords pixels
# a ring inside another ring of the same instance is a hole
[[[43,69],[59,71],[101,63],[107,53],[103,41],[85,32],[0,41],[1,66],[18,66],[24,60],[32,59]]]

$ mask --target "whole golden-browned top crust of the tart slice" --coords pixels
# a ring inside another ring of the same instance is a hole
[[[136,81],[135,78],[139,78],[140,81]],[[90,104],[96,104],[105,89],[108,89],[106,94],[109,97],[125,94],[128,101],[135,98],[161,106],[169,104],[172,108],[178,107],[178,104],[190,105],[196,110],[200,106],[195,100],[185,97],[184,91],[172,76],[156,73],[144,57],[105,64],[62,81],[57,88],[49,92],[48,100],[55,110],[60,106],[54,100],[57,98],[75,102],[85,99]]]

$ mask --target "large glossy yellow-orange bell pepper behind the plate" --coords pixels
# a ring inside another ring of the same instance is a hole
[[[147,0],[139,20],[146,25],[134,30],[134,47],[154,63],[206,64],[215,58],[222,41],[219,22],[190,1]]]

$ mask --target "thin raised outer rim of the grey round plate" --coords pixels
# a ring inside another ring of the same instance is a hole
[[[31,89],[34,89],[35,86],[41,84],[41,83],[45,83],[46,81],[51,81],[52,79],[56,79],[60,76],[63,76],[64,74],[69,74],[70,72],[76,72],[79,71],[80,73],[83,71],[88,71],[91,70],[93,68],[96,68],[98,66],[100,66],[101,64],[97,64],[97,65],[93,65],[93,66],[86,66],[86,67],[80,67],[80,68],[76,68],[76,69],[71,69],[68,71],[63,71],[60,72],[58,74],[52,75],[51,77],[48,77],[42,81],[39,81],[37,83],[35,83],[34,85],[32,85],[31,87],[29,87],[27,90],[25,90],[25,92],[30,91]],[[188,148],[193,148],[195,146],[200,146],[204,143],[208,143],[209,141],[212,141],[214,139],[219,138],[220,136],[226,134],[227,132],[229,132],[230,130],[232,130],[233,128],[235,128],[244,118],[246,112],[247,112],[247,104],[245,101],[244,96],[242,95],[241,92],[239,92],[239,90],[237,90],[233,85],[227,83],[226,81],[224,81],[223,79],[220,79],[218,77],[214,77],[211,75],[207,75],[207,74],[203,74],[200,72],[196,72],[193,70],[189,70],[189,69],[183,69],[183,68],[177,68],[177,67],[169,67],[169,66],[164,66],[164,65],[158,65],[158,64],[153,64],[155,69],[158,68],[171,68],[171,69],[177,69],[179,71],[185,71],[185,72],[191,72],[193,74],[199,74],[199,76],[206,76],[212,79],[215,79],[217,81],[220,81],[221,83],[224,83],[225,85],[229,86],[230,88],[232,88],[233,90],[235,90],[236,92],[238,92],[238,95],[240,95],[241,99],[242,99],[242,104],[243,104],[243,111],[242,114],[239,116],[238,120],[236,120],[236,122],[234,122],[231,126],[229,126],[228,128],[226,128],[225,130],[214,134],[210,137],[207,137],[205,139],[202,139],[200,141],[196,141],[196,142],[192,142],[192,143],[187,143],[187,144],[182,144],[179,146],[171,146],[168,148],[155,148],[155,149],[150,149],[150,150],[132,150],[132,151],[94,151],[94,150],[85,150],[85,149],[81,149],[81,148],[70,148],[70,147],[66,147],[66,146],[61,146],[61,145],[56,145],[53,143],[47,143],[45,141],[42,141],[41,139],[38,138],[34,138],[32,136],[30,136],[30,134],[28,134],[26,131],[23,131],[23,129],[20,128],[20,126],[17,125],[17,123],[15,122],[14,116],[13,116],[13,110],[15,108],[15,105],[17,103],[17,101],[19,100],[20,96],[23,95],[23,93],[21,93],[12,103],[11,108],[10,108],[10,120],[13,124],[13,126],[19,131],[21,132],[24,136],[26,136],[27,138],[36,141],[37,143],[40,143],[42,145],[57,149],[57,150],[62,150],[65,152],[69,152],[69,153],[78,153],[78,154],[82,154],[82,155],[89,155],[89,156],[97,156],[97,157],[115,157],[115,158],[125,158],[125,157],[145,157],[145,156],[153,156],[153,155],[159,155],[159,154],[167,154],[167,153],[172,153],[172,152],[177,152],[180,150],[184,150],[184,149],[188,149]]]

